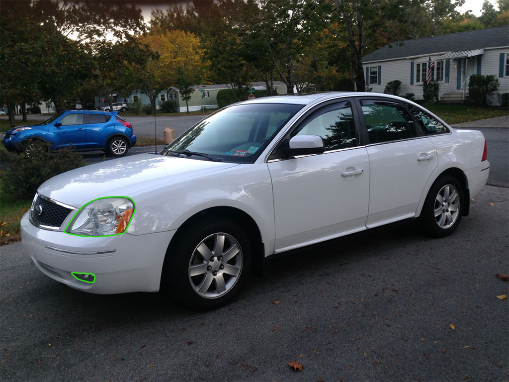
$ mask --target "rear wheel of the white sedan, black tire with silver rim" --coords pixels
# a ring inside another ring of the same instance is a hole
[[[444,175],[433,183],[420,216],[423,228],[430,236],[448,236],[458,228],[464,195],[461,183],[454,176]]]

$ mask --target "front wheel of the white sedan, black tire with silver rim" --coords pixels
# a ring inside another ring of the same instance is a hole
[[[166,253],[163,288],[192,310],[228,304],[242,289],[251,268],[251,243],[230,219],[206,216],[181,232]]]

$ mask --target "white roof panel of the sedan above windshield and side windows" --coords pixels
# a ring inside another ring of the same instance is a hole
[[[326,101],[328,99],[334,99],[338,97],[359,97],[359,96],[371,96],[371,97],[385,97],[402,100],[403,98],[381,93],[366,93],[366,92],[324,92],[324,93],[313,93],[313,94],[295,94],[295,95],[281,95],[272,97],[261,97],[247,101],[238,102],[236,104],[246,103],[290,103],[296,105],[309,105],[318,101]],[[405,101],[408,101],[405,99]]]

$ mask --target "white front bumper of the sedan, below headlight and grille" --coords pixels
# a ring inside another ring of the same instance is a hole
[[[34,226],[21,218],[21,243],[46,276],[89,293],[157,292],[169,241],[175,231],[147,235],[81,237]],[[94,283],[71,272],[95,275]]]

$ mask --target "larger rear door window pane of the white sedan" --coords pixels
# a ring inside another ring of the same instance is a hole
[[[361,105],[370,144],[416,137],[413,119],[399,103],[362,100]]]

